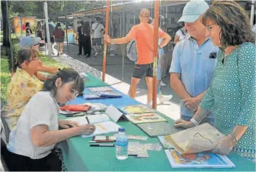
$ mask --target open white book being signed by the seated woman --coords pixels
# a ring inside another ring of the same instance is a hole
[[[88,123],[95,125],[95,132],[91,135],[82,135],[83,138],[89,138],[106,133],[118,132],[119,125],[115,122],[110,121],[110,118],[106,114],[92,115],[92,116],[81,116],[77,118],[68,118],[65,120],[72,120],[79,122],[80,125],[87,125]]]

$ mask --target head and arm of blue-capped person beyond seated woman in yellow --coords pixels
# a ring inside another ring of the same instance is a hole
[[[21,40],[19,41],[19,47],[21,48],[32,48],[34,50],[39,51],[39,42],[41,41],[41,39],[39,37],[35,37],[35,36],[25,36],[22,37]],[[57,74],[58,72],[58,67],[49,67],[49,66],[45,66],[42,65],[41,68],[39,69],[39,72],[47,72],[50,74]],[[37,72],[35,74],[35,76],[39,79],[39,80],[46,80],[46,76],[43,76],[43,74],[40,74],[39,72]]]

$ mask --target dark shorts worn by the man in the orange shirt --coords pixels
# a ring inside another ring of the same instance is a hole
[[[135,72],[133,72],[133,78],[153,77],[153,63],[147,65],[135,65]]]

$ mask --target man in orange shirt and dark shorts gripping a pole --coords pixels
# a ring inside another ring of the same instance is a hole
[[[130,32],[123,38],[120,39],[110,39],[110,37],[105,34],[104,40],[107,43],[124,44],[128,43],[132,39],[135,39],[137,45],[137,56],[138,61],[135,65],[135,71],[132,76],[130,83],[130,97],[135,98],[136,89],[139,80],[146,76],[146,83],[148,85],[148,100],[147,105],[152,103],[152,76],[153,76],[153,44],[154,44],[154,26],[148,24],[150,17],[150,12],[148,9],[144,8],[139,12],[138,25],[134,25]],[[163,39],[159,48],[164,47],[169,41],[170,36],[166,32],[159,29],[159,38]]]

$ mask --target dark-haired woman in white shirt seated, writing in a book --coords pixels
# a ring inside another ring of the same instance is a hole
[[[74,99],[83,89],[83,78],[71,68],[61,69],[45,81],[43,90],[29,100],[10,132],[5,151],[10,171],[61,171],[55,144],[95,131],[94,125],[58,120],[59,106]]]

